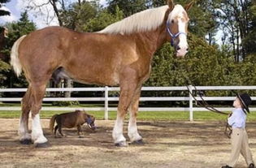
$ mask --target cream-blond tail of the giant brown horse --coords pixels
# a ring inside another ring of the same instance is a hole
[[[17,41],[15,41],[14,45],[11,47],[11,66],[13,67],[16,75],[19,77],[22,67],[20,64],[20,59],[19,59],[19,46],[21,41],[24,40],[24,37],[27,35],[24,35],[20,37]]]

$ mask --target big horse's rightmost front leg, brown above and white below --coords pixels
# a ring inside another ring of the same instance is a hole
[[[139,101],[141,97],[141,87],[137,88],[137,91],[132,99],[132,103],[128,108],[130,119],[128,123],[128,136],[131,140],[131,144],[143,144],[142,137],[137,131],[137,112],[139,108]]]

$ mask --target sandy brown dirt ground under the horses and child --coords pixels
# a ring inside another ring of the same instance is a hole
[[[140,121],[137,125],[145,144],[118,148],[111,139],[114,121],[97,121],[95,133],[84,127],[84,138],[76,135],[76,129],[64,129],[66,137],[54,138],[49,119],[42,119],[50,142],[46,149],[20,144],[18,123],[19,119],[0,119],[0,167],[215,168],[223,166],[230,154],[223,122]],[[256,123],[247,126],[255,160]],[[127,123],[124,135],[127,137]],[[243,157],[236,167],[246,167]]]

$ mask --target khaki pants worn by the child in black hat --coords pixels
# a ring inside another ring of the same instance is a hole
[[[247,132],[243,128],[234,128],[231,135],[231,156],[228,162],[228,166],[235,166],[236,161],[241,153],[245,157],[247,165],[253,163],[252,153],[249,150]]]

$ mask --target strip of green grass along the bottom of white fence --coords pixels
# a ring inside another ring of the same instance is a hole
[[[41,118],[50,118],[54,114],[61,114],[64,111],[41,111]],[[104,119],[103,111],[88,111],[89,114],[93,114],[98,120]],[[116,112],[109,112],[109,119],[115,119]],[[195,111],[193,112],[193,119],[195,121],[200,120],[225,120],[227,115],[215,114],[207,111]],[[0,118],[20,118],[20,111],[0,111]],[[127,115],[128,118],[128,115]],[[137,120],[189,120],[188,111],[140,111],[137,115]],[[256,121],[256,112],[251,112],[248,115],[249,121]]]

